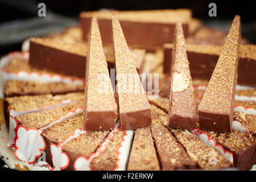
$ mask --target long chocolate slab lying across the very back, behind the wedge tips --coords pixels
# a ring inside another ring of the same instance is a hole
[[[161,48],[164,43],[172,42],[175,23],[183,23],[184,34],[188,35],[191,11],[146,10],[146,11],[89,11],[80,14],[83,39],[87,41],[90,19],[97,17],[104,44],[112,42],[112,16],[116,16],[126,35],[127,44],[147,49]],[[139,31],[138,31],[139,30]],[[148,39],[150,38],[150,39]]]

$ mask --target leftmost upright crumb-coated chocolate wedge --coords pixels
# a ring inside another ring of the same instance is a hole
[[[92,18],[90,27],[85,79],[84,129],[113,129],[117,121],[117,104],[96,18]]]

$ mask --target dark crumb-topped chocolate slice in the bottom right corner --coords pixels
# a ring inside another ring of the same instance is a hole
[[[240,170],[247,170],[256,163],[255,155],[256,138],[248,136],[238,130],[232,130],[229,134],[208,132],[210,138],[221,144],[225,150],[233,153],[234,165]]]

